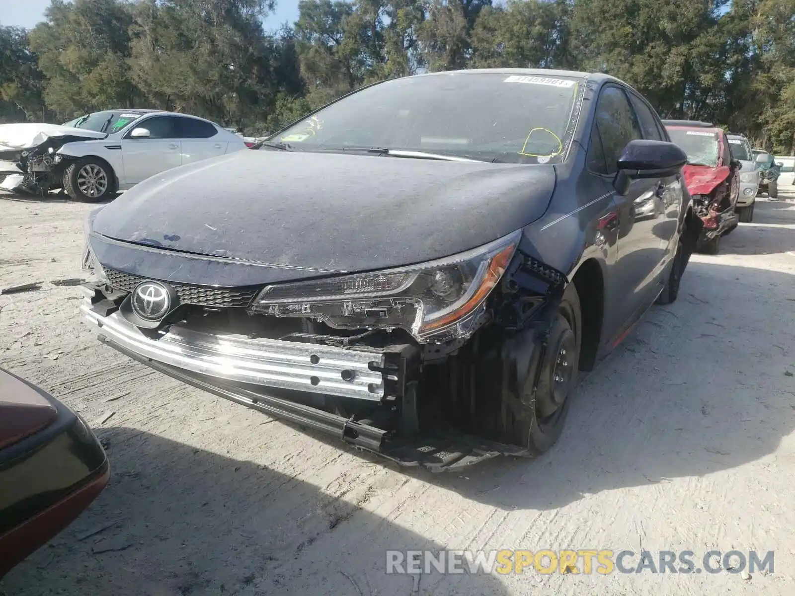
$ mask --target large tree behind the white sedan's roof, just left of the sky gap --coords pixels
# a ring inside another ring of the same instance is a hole
[[[144,0],[134,11],[131,77],[162,109],[246,126],[272,105],[277,49],[266,0]]]

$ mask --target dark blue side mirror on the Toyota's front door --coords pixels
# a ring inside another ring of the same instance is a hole
[[[619,195],[626,195],[633,180],[665,178],[681,172],[688,162],[687,153],[666,141],[635,139],[624,147],[619,157],[619,172],[613,186]]]

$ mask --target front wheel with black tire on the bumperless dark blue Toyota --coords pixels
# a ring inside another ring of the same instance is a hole
[[[502,412],[506,412],[503,442],[524,447],[532,456],[545,453],[556,443],[576,387],[581,342],[580,296],[574,284],[568,284],[549,334],[535,391],[536,369],[531,365],[535,354],[521,359],[527,366],[516,371],[518,382],[502,387]]]

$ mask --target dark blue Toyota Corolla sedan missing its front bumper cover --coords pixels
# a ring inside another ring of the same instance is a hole
[[[578,372],[700,231],[653,108],[607,75],[394,79],[87,221],[83,315],[208,392],[406,465],[555,443]]]

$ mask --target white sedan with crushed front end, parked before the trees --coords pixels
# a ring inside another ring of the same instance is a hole
[[[64,125],[0,125],[0,189],[63,188],[95,202],[180,165],[246,149],[214,122],[160,110],[107,110]]]

